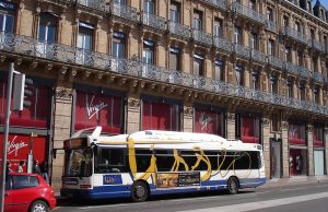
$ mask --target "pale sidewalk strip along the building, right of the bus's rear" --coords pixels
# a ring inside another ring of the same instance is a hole
[[[259,189],[263,188],[274,188],[274,187],[289,187],[297,185],[312,185],[312,184],[324,184],[328,182],[328,176],[295,176],[290,178],[276,178],[268,179],[263,186],[260,186]]]

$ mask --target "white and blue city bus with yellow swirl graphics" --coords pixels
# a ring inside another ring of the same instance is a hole
[[[207,133],[160,130],[63,141],[63,197],[129,197],[141,202],[166,193],[226,190],[237,193],[266,182],[260,144]]]

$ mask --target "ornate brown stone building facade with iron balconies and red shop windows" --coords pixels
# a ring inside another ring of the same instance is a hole
[[[0,0],[0,15],[1,133],[9,62],[36,92],[11,117],[9,160],[47,161],[57,189],[63,158],[52,149],[96,125],[260,143],[268,178],[327,174],[319,1]]]

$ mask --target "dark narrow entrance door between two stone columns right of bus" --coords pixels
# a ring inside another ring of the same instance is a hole
[[[271,139],[271,178],[281,177],[281,140]]]

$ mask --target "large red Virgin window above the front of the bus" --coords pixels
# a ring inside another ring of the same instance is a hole
[[[104,132],[121,133],[122,97],[77,92],[74,130],[103,127]]]

